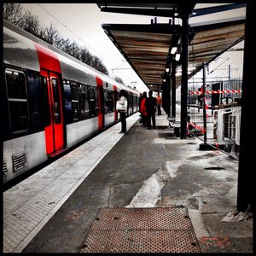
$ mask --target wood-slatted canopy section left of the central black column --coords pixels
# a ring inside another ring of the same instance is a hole
[[[177,45],[180,27],[171,24],[102,27],[148,89],[157,90],[164,78],[170,49]]]

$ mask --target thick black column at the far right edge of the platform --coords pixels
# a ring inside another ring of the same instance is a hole
[[[253,196],[255,187],[255,178],[253,171],[255,169],[255,135],[253,134],[253,119],[255,109],[255,86],[252,81],[255,80],[255,71],[253,63],[255,33],[253,1],[247,2],[246,26],[245,26],[245,44],[244,44],[244,65],[243,79],[241,85],[241,133],[240,133],[240,154],[238,164],[238,187],[237,187],[237,211],[244,212],[250,207],[253,212]]]

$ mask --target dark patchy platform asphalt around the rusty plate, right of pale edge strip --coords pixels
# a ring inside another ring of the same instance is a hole
[[[221,222],[228,212],[236,211],[238,161],[216,150],[200,151],[201,140],[181,140],[168,127],[166,115],[156,119],[155,130],[142,127],[134,119],[135,125],[91,166],[90,173],[84,174],[86,178],[22,252],[81,252],[90,225],[104,207],[184,207],[201,253],[252,253],[253,218],[239,223]],[[104,143],[108,140],[105,137]],[[104,143],[98,144],[97,150]],[[87,161],[73,166],[84,170]],[[61,168],[51,168],[61,172]],[[75,168],[62,186],[73,182],[73,173]],[[8,212],[11,215],[10,208]]]

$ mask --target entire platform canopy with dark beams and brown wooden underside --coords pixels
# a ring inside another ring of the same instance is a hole
[[[149,90],[161,89],[165,79],[166,68],[170,67],[172,47],[181,51],[180,25],[174,23],[174,18],[180,18],[183,9],[189,9],[190,16],[205,15],[208,12],[218,12],[222,8],[233,9],[237,4],[229,4],[218,8],[196,9],[195,4],[184,6],[174,3],[141,3],[141,4],[98,4],[102,11],[169,17],[169,23],[151,22],[142,24],[103,24],[102,28],[108,38],[124,55],[126,61],[137,75],[148,86]],[[228,8],[229,7],[229,8]],[[243,7],[243,6],[241,6]],[[192,12],[193,11],[193,12]],[[244,38],[245,17],[236,20],[204,21],[189,26],[189,75],[191,77],[200,71],[203,63],[216,59],[227,49],[239,43]],[[177,66],[181,65],[177,61]],[[176,86],[181,84],[181,72],[177,67]]]

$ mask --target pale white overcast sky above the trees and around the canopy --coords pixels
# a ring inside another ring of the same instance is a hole
[[[214,4],[211,4],[211,6]],[[217,3],[217,5],[220,5]],[[136,82],[137,90],[147,90],[143,81],[131,69],[131,66],[125,61],[123,55],[114,46],[112,41],[102,29],[102,24],[150,24],[154,16],[144,15],[124,15],[114,13],[104,13],[97,7],[96,3],[22,3],[24,9],[28,9],[33,15],[38,15],[42,26],[48,26],[52,23],[55,28],[61,32],[64,38],[75,40],[78,44],[84,45],[90,50],[91,54],[101,58],[104,65],[108,68],[109,74],[117,75],[125,84]],[[195,8],[203,8],[208,5],[200,4]],[[225,11],[221,14],[207,16],[207,20],[216,20],[218,18],[227,18],[230,16],[241,16],[245,14],[245,9],[236,9]],[[55,18],[53,18],[53,15]],[[201,22],[206,18],[203,16],[192,18],[190,23]],[[59,21],[61,22],[59,22]],[[158,17],[158,23],[167,23],[168,18]],[[64,27],[63,25],[67,27]],[[70,30],[72,32],[70,32]],[[75,35],[77,35],[77,37]],[[82,40],[80,40],[81,38]],[[130,68],[112,71],[113,68]]]

